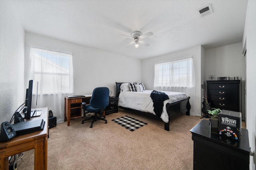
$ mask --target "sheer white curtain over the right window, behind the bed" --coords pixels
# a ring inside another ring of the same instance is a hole
[[[190,112],[195,114],[193,57],[155,64],[154,90],[185,93],[190,97]]]

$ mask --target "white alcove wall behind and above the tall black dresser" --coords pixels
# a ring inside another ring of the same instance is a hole
[[[230,80],[234,80],[234,77],[239,77],[239,80],[241,80],[240,96],[244,96],[244,90],[242,88],[242,81],[244,81],[244,55],[242,55],[242,43],[206,50],[205,65],[206,80],[209,80],[209,75],[215,75],[215,80],[218,80],[218,77],[227,76]],[[242,112],[244,119],[242,105],[242,100],[240,100],[240,112]]]

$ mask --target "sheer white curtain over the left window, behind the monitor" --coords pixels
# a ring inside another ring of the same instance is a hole
[[[30,79],[38,82],[37,107],[48,107],[64,121],[64,97],[73,94],[72,55],[31,47]]]

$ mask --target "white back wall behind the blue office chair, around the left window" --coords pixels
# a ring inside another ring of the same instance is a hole
[[[114,96],[115,82],[142,80],[141,61],[138,59],[26,32],[25,61],[29,61],[30,46],[72,54],[74,95],[92,94],[94,88],[106,86]],[[25,69],[25,82],[29,79]]]

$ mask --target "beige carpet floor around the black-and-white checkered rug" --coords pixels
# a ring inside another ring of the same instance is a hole
[[[148,123],[135,131],[111,121],[128,115]],[[48,170],[192,170],[193,141],[190,129],[202,119],[180,115],[164,123],[119,109],[98,120],[92,128],[82,119],[58,123],[48,138]],[[34,150],[24,152],[18,170],[34,169]]]

